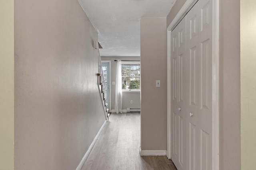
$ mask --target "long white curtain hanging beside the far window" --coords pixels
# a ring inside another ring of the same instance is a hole
[[[121,60],[116,64],[116,97],[115,97],[115,110],[116,113],[122,113],[122,64]]]

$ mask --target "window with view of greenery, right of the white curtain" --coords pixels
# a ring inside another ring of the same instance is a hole
[[[123,91],[140,91],[140,63],[122,62]]]

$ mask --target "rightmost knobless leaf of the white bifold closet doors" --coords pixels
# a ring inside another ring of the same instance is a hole
[[[199,167],[212,169],[212,0],[199,0]]]

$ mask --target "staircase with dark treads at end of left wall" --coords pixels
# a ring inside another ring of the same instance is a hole
[[[100,93],[100,98],[101,98],[101,102],[102,102],[102,107],[104,110],[104,115],[106,120],[108,121],[109,119],[109,109],[107,108],[108,104],[106,103],[106,98],[107,98],[107,92],[106,92],[106,82],[104,81],[104,74],[103,74],[103,70],[102,70],[102,63],[101,63],[101,59],[100,59],[100,55],[99,55],[99,64],[98,64],[98,89],[99,89],[99,93]]]

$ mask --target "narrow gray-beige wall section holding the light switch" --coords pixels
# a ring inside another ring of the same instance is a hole
[[[140,55],[141,149],[166,150],[166,18],[141,18]]]

